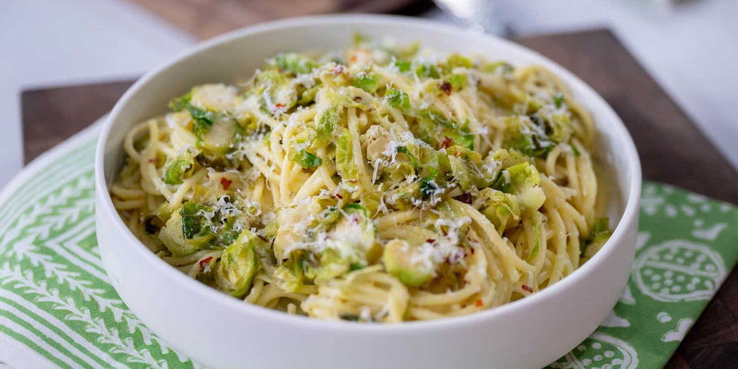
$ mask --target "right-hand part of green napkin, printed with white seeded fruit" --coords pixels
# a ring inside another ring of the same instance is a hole
[[[645,182],[635,263],[597,331],[549,368],[663,368],[738,261],[738,208]]]

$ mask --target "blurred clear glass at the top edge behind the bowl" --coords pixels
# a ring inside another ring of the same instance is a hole
[[[495,0],[433,0],[456,21],[477,32],[506,36],[510,29]]]

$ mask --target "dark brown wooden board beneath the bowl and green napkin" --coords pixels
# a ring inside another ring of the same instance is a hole
[[[140,0],[143,1],[143,0]],[[520,38],[589,83],[627,125],[644,177],[738,204],[738,173],[607,30]],[[22,93],[28,162],[94,122],[132,81]],[[738,368],[738,272],[708,304],[667,368]]]

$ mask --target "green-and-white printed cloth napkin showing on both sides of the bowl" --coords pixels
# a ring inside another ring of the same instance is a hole
[[[198,368],[120,300],[94,228],[93,128],[0,193],[0,362],[13,368]],[[738,261],[738,208],[646,183],[627,290],[551,368],[662,368]],[[730,227],[733,226],[733,227]]]

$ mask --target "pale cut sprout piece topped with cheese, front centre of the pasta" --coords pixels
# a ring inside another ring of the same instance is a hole
[[[382,261],[387,272],[405,286],[420,287],[435,274],[432,255],[425,255],[421,246],[410,246],[403,240],[395,239],[384,245]]]

